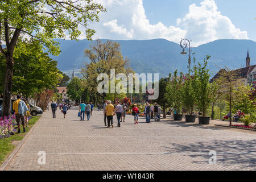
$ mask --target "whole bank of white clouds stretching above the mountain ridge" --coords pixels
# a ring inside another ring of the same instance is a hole
[[[203,0],[200,6],[189,6],[188,14],[176,20],[176,26],[162,22],[150,24],[142,0],[97,0],[108,10],[100,14],[100,22],[90,24],[96,30],[94,39],[156,39],[179,43],[180,38],[192,39],[199,46],[217,39],[248,39],[247,32],[236,28],[232,21],[217,10],[213,0]],[[84,36],[80,37],[85,38]]]

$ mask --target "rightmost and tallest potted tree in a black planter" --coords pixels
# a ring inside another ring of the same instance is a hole
[[[195,75],[195,93],[196,104],[198,109],[203,113],[203,116],[199,116],[200,125],[209,125],[210,117],[207,116],[207,109],[212,102],[212,85],[209,83],[210,73],[207,69],[207,64],[210,56],[204,59],[204,63],[198,63],[193,67]]]

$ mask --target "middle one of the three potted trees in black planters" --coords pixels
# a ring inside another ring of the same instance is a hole
[[[196,102],[195,93],[195,76],[186,74],[183,76],[183,86],[182,86],[182,97],[181,101],[184,107],[187,108],[187,115],[185,115],[185,122],[194,123],[196,121],[196,115],[193,114],[193,110]]]

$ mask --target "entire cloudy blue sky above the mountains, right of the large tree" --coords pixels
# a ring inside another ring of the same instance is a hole
[[[192,46],[217,39],[250,39],[256,42],[255,0],[95,0],[108,12],[93,39],[145,40],[163,38]],[[80,39],[85,39],[81,35]]]

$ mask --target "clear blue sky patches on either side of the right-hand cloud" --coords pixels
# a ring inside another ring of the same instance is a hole
[[[201,0],[143,0],[143,6],[150,23],[159,21],[167,26],[188,13],[192,3],[200,5]],[[222,15],[228,16],[233,24],[248,32],[250,40],[256,41],[256,1],[255,0],[215,0]]]

